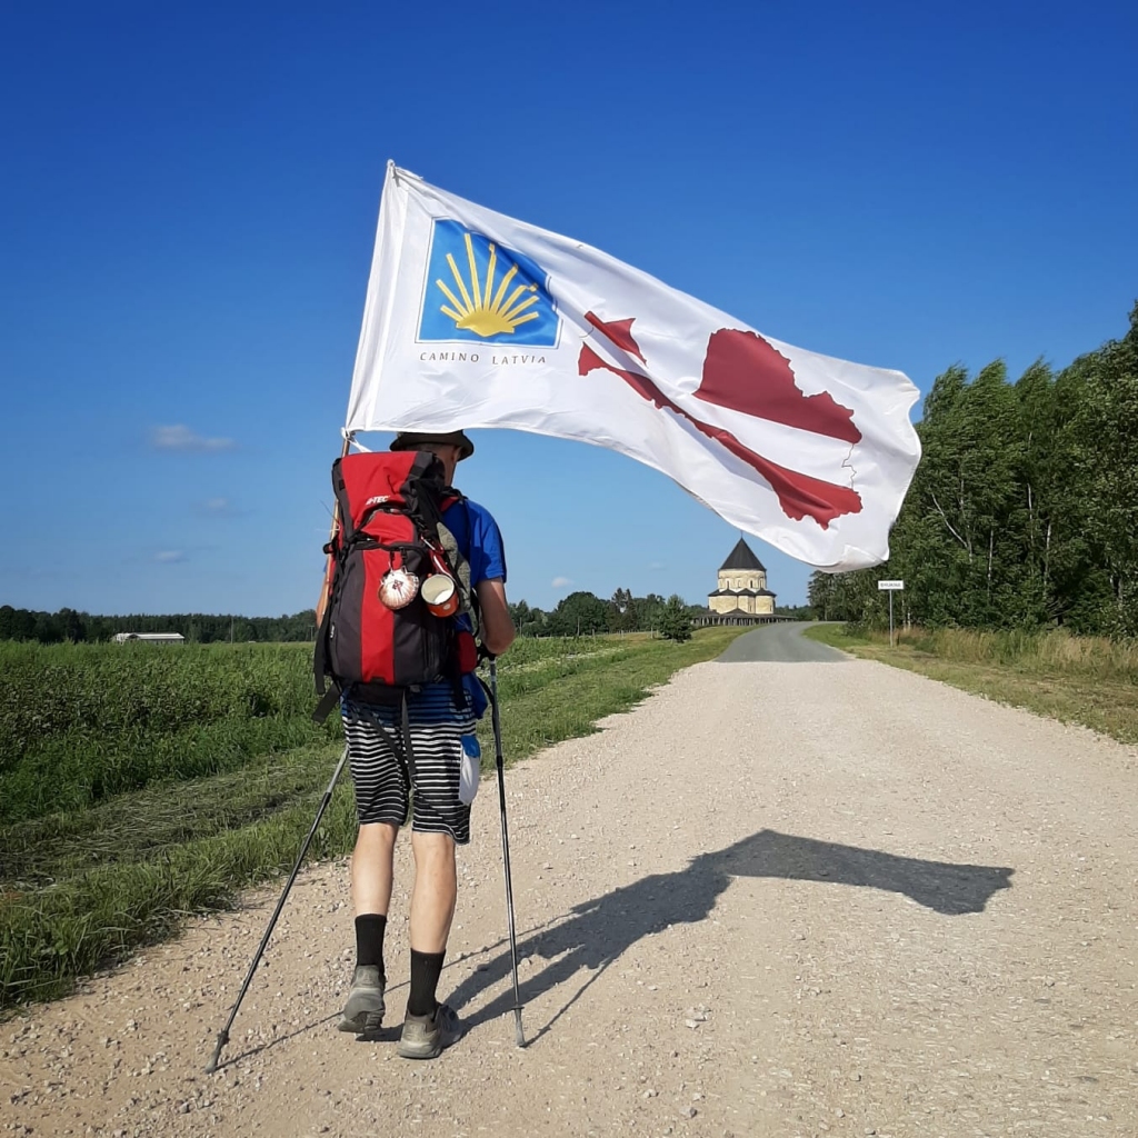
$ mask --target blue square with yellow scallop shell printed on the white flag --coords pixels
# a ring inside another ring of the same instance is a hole
[[[553,347],[561,321],[547,283],[523,254],[436,218],[419,339]]]

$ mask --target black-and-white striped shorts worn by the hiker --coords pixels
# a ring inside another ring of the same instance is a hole
[[[459,777],[462,736],[473,733],[475,717],[468,708],[455,706],[454,688],[430,684],[407,694],[411,764],[403,753],[398,707],[345,700],[340,715],[360,825],[388,822],[402,826],[410,806],[413,831],[450,834],[459,846],[467,844],[470,807],[459,801]]]

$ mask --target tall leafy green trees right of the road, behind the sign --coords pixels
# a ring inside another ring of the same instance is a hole
[[[1138,635],[1138,304],[1118,340],[1012,381],[1001,361],[937,377],[923,456],[883,566],[816,572],[818,617],[880,626]]]

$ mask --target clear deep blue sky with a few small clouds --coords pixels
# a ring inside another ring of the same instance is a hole
[[[0,603],[314,603],[388,158],[922,393],[1125,329],[1132,3],[320,7],[0,15]],[[662,476],[476,442],[512,599],[714,587]]]

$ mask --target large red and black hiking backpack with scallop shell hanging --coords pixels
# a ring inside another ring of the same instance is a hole
[[[332,464],[339,526],[324,546],[332,569],[313,661],[323,696],[318,719],[341,693],[398,703],[411,687],[459,684],[475,669],[473,636],[436,616],[421,592],[429,578],[450,577],[469,610],[461,567],[452,564],[456,552],[444,549],[439,533],[443,511],[461,500],[444,477],[443,463],[424,451],[348,454]]]

